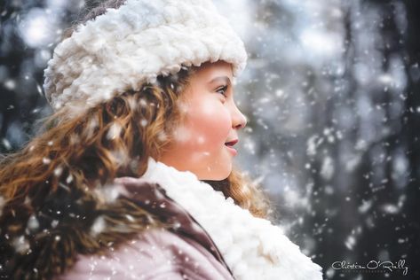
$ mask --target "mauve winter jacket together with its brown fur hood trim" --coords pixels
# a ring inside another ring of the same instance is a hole
[[[159,272],[177,279],[210,270],[228,279],[210,236],[156,183],[125,178],[95,190],[58,188],[28,201],[32,207],[4,206],[0,215],[0,277],[138,279]]]

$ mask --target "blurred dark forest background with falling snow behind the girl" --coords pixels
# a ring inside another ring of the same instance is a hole
[[[52,113],[42,84],[83,0],[1,0],[0,153]],[[218,0],[249,62],[236,164],[326,279],[420,279],[420,1]],[[417,216],[417,218],[416,218]],[[375,273],[335,261],[404,260]],[[310,280],[310,279],[308,279]]]

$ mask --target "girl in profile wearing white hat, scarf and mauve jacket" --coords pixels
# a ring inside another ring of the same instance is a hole
[[[8,279],[321,279],[234,167],[241,39],[210,0],[107,1],[45,70],[54,109],[0,168]]]

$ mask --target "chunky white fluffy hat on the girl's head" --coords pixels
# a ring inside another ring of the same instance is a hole
[[[210,0],[126,0],[57,45],[44,92],[54,110],[75,100],[87,108],[159,74],[218,60],[231,63],[237,76],[247,53]]]

